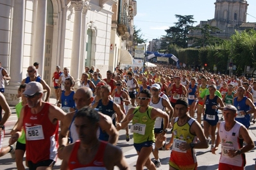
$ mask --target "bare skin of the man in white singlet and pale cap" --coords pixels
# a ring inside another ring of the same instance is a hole
[[[225,128],[231,130],[234,127],[234,123],[236,122],[235,116],[237,116],[237,113],[235,111],[226,110],[226,111],[223,111],[223,116],[225,120]],[[216,139],[216,144],[214,148],[212,148],[213,154],[216,154],[219,143],[221,143],[221,139],[219,137],[219,125],[220,125],[220,122],[218,122],[217,124],[217,127],[218,127],[217,139]],[[252,137],[250,137],[248,130],[244,126],[241,126],[239,128],[239,138],[244,139],[244,142],[246,143],[245,146],[240,148],[241,153],[246,153],[247,151],[250,151],[254,148]],[[237,150],[228,150],[228,156],[230,158],[235,157],[236,155],[238,155]]]

